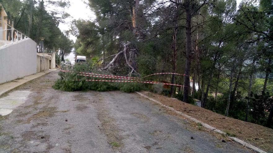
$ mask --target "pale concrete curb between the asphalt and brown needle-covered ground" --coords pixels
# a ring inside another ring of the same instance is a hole
[[[153,101],[153,102],[159,104],[161,107],[167,108],[168,110],[173,111],[173,112],[175,112],[176,114],[179,114],[179,115],[181,115],[181,116],[183,116],[183,117],[188,118],[188,119],[191,120],[191,121],[194,121],[195,123],[201,123],[204,127],[206,127],[206,128],[209,129],[209,130],[212,130],[212,131],[214,131],[214,132],[217,132],[217,133],[219,133],[219,134],[222,134],[222,135],[224,135],[224,136],[227,136],[227,134],[226,134],[225,132],[216,129],[216,128],[213,127],[213,126],[210,126],[210,125],[208,125],[208,124],[206,124],[206,123],[204,123],[204,122],[202,122],[202,121],[199,121],[199,120],[197,120],[197,119],[195,119],[195,118],[193,118],[193,117],[190,117],[189,115],[186,115],[186,114],[184,114],[184,113],[182,113],[182,112],[179,112],[179,111],[175,110],[174,108],[171,108],[171,107],[169,107],[169,106],[167,106],[167,105],[162,104],[161,102],[159,102],[159,101],[157,101],[157,100],[154,100],[154,99],[152,99],[152,98],[150,98],[150,97],[148,97],[148,96],[145,96],[144,94],[142,94],[142,93],[140,93],[140,92],[137,92],[137,91],[136,91],[136,93],[139,94],[140,96],[144,97],[144,98],[147,98],[147,99],[149,99],[149,100],[151,100],[151,101]],[[228,138],[231,139],[231,140],[233,140],[233,141],[235,141],[235,142],[237,142],[237,143],[239,143],[239,144],[241,144],[241,145],[243,145],[243,146],[245,146],[245,147],[247,147],[248,149],[251,149],[251,150],[256,151],[256,152],[258,152],[258,153],[267,153],[266,151],[263,151],[262,149],[259,149],[259,148],[255,147],[255,146],[253,146],[253,145],[251,145],[251,144],[249,144],[249,143],[247,143],[247,142],[244,142],[244,141],[242,141],[242,140],[240,140],[240,139],[238,139],[238,138],[229,137],[229,136],[228,136]]]

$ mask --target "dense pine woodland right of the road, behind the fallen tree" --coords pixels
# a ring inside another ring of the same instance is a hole
[[[89,0],[89,6],[95,20],[73,21],[75,52],[102,61],[99,70],[185,74],[150,79],[184,85],[169,92],[185,102],[199,99],[204,108],[266,125],[253,117],[258,110],[272,121],[271,106],[257,104],[273,96],[271,0],[238,7],[235,0]]]

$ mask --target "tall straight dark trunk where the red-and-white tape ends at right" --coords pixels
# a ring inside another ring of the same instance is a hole
[[[186,66],[185,66],[185,80],[183,101],[189,103],[189,89],[190,89],[190,61],[191,61],[191,8],[190,0],[185,2],[186,8]]]

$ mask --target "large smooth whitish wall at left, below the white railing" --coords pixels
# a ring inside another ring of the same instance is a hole
[[[30,38],[0,47],[0,83],[35,74],[36,43]]]

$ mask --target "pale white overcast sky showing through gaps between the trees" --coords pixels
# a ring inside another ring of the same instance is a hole
[[[242,0],[236,0],[237,7]],[[71,26],[71,21],[76,19],[84,19],[84,20],[93,20],[95,19],[94,13],[90,10],[89,6],[87,5],[88,0],[69,0],[70,7],[66,10],[67,13],[70,14],[71,17],[65,19],[65,23],[60,23],[59,28],[61,31],[69,30]],[[76,41],[76,37],[70,35],[70,39],[74,42]],[[75,62],[75,54],[70,53],[69,55],[65,56],[65,59],[68,58],[71,63]]]

